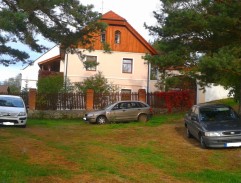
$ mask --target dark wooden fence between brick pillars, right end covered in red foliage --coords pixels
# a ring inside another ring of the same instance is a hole
[[[28,93],[14,94],[21,96],[25,104],[29,104]],[[107,105],[123,100],[139,100],[140,93],[110,93],[93,95],[92,109],[101,109]],[[145,100],[152,107],[167,109],[172,112],[173,108],[190,108],[195,103],[195,92],[193,90],[169,91],[146,93]],[[85,110],[87,106],[85,93],[36,93],[36,110]]]

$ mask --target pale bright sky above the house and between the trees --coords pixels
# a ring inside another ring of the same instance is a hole
[[[153,11],[160,9],[160,0],[80,0],[84,5],[93,4],[94,10],[100,13],[113,11],[119,16],[125,18],[128,23],[139,32],[147,41],[152,40],[148,30],[144,28],[144,22],[148,25],[156,23],[153,17]],[[51,45],[52,47],[53,45]],[[51,48],[50,47],[50,48]],[[31,59],[36,60],[41,54],[29,53]],[[15,77],[25,66],[22,64],[4,67],[0,65],[0,81],[4,81],[10,77]]]

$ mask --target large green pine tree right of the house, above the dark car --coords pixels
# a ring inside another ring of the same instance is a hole
[[[160,55],[146,59],[160,71],[179,69],[197,79],[231,88],[240,101],[241,93],[241,1],[161,0],[155,11],[156,36]]]

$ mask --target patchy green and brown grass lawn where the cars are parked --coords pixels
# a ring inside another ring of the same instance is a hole
[[[241,148],[201,149],[184,113],[147,123],[29,119],[0,128],[0,183],[241,182]]]

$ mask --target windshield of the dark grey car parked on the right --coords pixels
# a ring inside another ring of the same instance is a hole
[[[229,107],[201,108],[201,121],[223,121],[237,119],[237,114]]]

